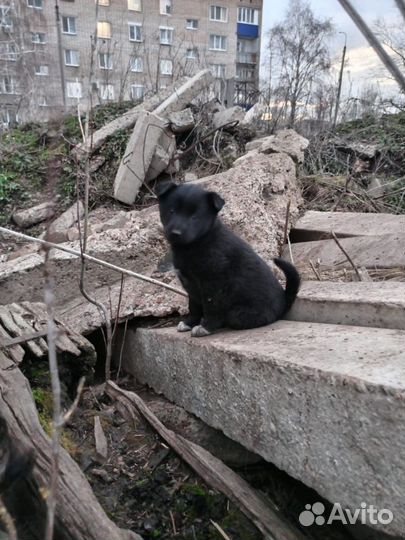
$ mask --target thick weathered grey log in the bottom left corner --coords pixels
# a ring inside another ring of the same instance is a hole
[[[19,538],[43,540],[50,477],[51,441],[42,429],[30,385],[14,361],[0,351],[0,415],[16,451],[33,455],[32,472],[3,494]],[[105,514],[79,466],[60,450],[54,538],[57,540],[142,540],[119,529]],[[15,489],[14,489],[15,488]]]

